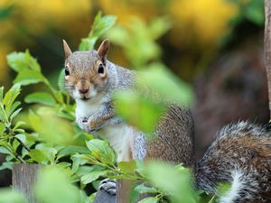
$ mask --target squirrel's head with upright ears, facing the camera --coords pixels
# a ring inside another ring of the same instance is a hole
[[[103,41],[98,51],[70,51],[63,40],[65,51],[65,87],[75,99],[87,101],[107,90],[108,40]]]

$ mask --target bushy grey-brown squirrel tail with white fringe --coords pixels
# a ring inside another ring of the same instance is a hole
[[[197,187],[220,196],[218,185],[234,182],[238,171],[239,188],[227,202],[271,202],[270,169],[270,133],[263,126],[238,122],[223,127],[204,154],[198,164]]]

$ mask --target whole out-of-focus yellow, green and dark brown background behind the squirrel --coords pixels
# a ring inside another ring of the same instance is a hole
[[[98,11],[117,16],[104,36],[112,42],[109,60],[133,69],[134,58],[154,60],[155,52],[155,60],[192,84],[196,134],[209,137],[200,139],[200,150],[224,124],[267,122],[264,0],[1,0],[0,85],[10,87],[14,78],[5,55],[26,49],[56,84],[61,40],[76,51]]]

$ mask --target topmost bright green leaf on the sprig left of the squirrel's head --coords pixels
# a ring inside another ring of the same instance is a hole
[[[7,55],[7,64],[16,72],[21,72],[25,69],[33,69],[36,72],[41,71],[37,60],[33,59],[29,51],[13,52]]]

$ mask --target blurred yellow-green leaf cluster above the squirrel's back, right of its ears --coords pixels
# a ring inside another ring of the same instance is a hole
[[[161,50],[155,40],[170,27],[171,22],[167,17],[155,18],[149,24],[139,18],[132,18],[129,26],[115,26],[107,32],[107,37],[124,48],[126,58],[135,69],[140,69],[146,62],[158,59]],[[146,47],[148,49],[145,49]]]

